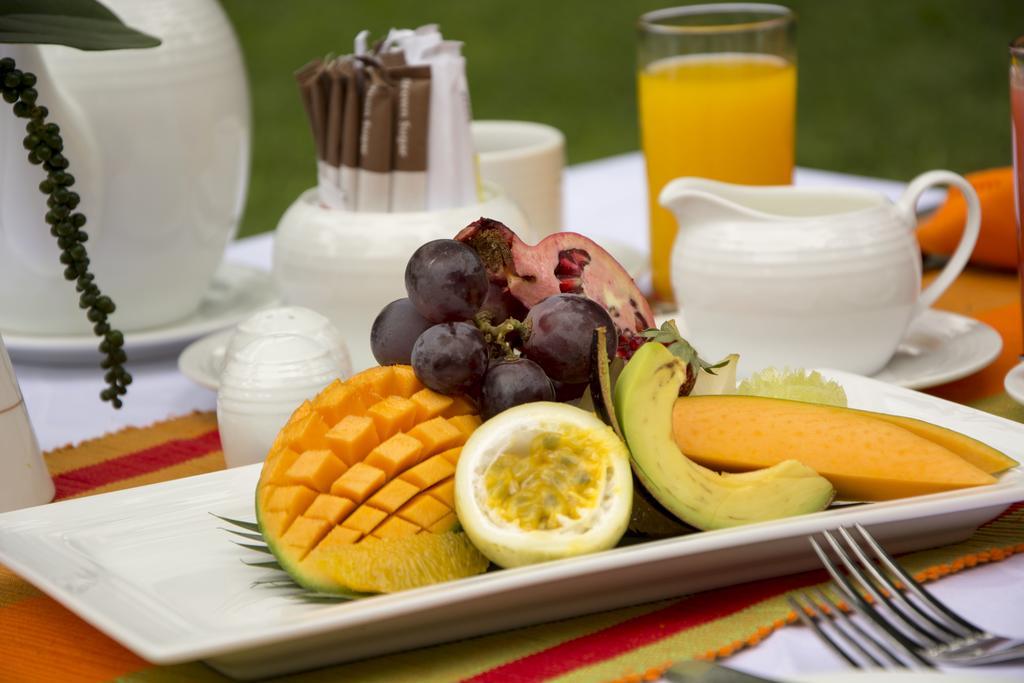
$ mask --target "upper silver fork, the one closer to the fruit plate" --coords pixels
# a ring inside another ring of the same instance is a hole
[[[897,564],[863,526],[854,528],[860,542],[846,528],[822,531],[839,563],[813,538],[811,547],[847,604],[878,626],[879,636],[910,666],[928,667],[931,661],[972,666],[1024,657],[1024,640],[991,634],[959,616]],[[842,613],[839,608],[835,611]],[[802,613],[803,609],[797,610]]]

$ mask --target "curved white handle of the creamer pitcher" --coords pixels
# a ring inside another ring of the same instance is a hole
[[[952,171],[928,171],[919,175],[907,185],[898,206],[911,229],[916,226],[914,207],[918,200],[932,185],[950,185],[964,194],[964,199],[967,201],[967,221],[964,224],[964,233],[961,236],[959,244],[952,256],[949,257],[945,267],[942,268],[942,272],[918,297],[914,315],[920,315],[930,308],[942,296],[942,293],[953,284],[953,281],[967,266],[981,231],[981,202],[978,201],[978,193],[964,176]]]

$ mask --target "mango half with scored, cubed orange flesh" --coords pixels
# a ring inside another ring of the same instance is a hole
[[[461,532],[438,543],[402,542],[457,530],[456,464],[479,425],[470,402],[424,388],[408,366],[332,383],[296,410],[263,464],[256,516],[267,546],[299,585],[325,593],[483,571],[487,560]],[[352,550],[371,543],[385,548]],[[421,567],[425,558],[402,553],[454,560]],[[368,559],[384,564],[359,568]],[[406,575],[394,575],[399,571]]]

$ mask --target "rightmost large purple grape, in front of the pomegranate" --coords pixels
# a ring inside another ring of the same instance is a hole
[[[604,306],[580,294],[555,294],[529,309],[523,354],[551,379],[580,384],[590,378],[594,330],[608,331],[608,357],[615,354],[615,328]]]

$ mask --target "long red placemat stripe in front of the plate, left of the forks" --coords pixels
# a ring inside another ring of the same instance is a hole
[[[813,586],[827,580],[828,574],[824,570],[805,571],[792,577],[699,593],[663,609],[496,667],[467,681],[473,683],[544,681],[567,674],[573,669],[610,659],[673,636],[680,631],[723,618],[786,591]]]

